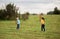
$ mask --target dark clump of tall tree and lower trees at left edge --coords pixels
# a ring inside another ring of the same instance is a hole
[[[14,20],[18,15],[18,9],[14,4],[7,4],[6,9],[0,10],[0,19]]]

